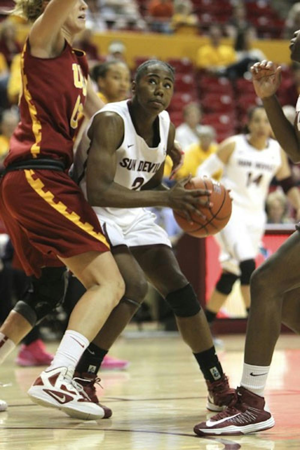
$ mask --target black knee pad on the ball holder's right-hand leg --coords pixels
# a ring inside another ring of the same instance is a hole
[[[178,317],[192,317],[201,309],[197,295],[191,284],[187,284],[184,288],[168,294],[166,296],[166,302]]]

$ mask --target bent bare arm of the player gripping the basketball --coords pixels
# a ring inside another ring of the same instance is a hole
[[[88,135],[91,146],[87,160],[87,195],[92,206],[167,206],[196,213],[198,204],[207,204],[207,198],[201,197],[210,192],[206,189],[184,189],[188,180],[176,183],[169,191],[136,191],[115,183],[116,150],[124,139],[124,122],[115,112],[97,114]]]

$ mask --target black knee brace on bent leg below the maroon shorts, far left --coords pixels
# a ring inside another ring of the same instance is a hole
[[[31,277],[22,300],[13,309],[34,326],[63,302],[66,290],[66,267],[44,267],[40,278]]]

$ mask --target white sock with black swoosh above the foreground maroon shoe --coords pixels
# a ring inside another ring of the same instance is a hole
[[[255,366],[244,363],[241,386],[263,397],[269,369],[270,366]]]

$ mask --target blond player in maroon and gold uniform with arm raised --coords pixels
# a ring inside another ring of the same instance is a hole
[[[82,352],[124,293],[99,222],[67,175],[79,114],[91,116],[103,106],[86,81],[84,54],[71,47],[85,26],[87,5],[83,0],[16,4],[16,11],[34,23],[22,53],[21,122],[5,161],[0,211],[32,288],[1,327],[0,362],[63,298],[63,266],[68,266],[87,292],[72,312],[51,366],[29,395],[73,417],[109,417],[111,411],[94,405],[72,379]]]

